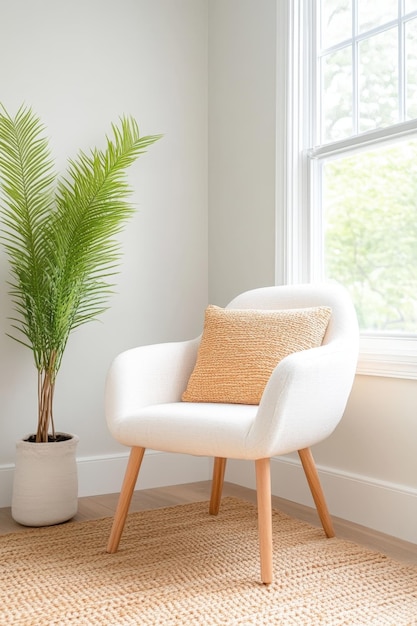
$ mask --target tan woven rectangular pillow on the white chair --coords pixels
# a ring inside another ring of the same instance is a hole
[[[320,346],[329,307],[254,310],[210,305],[184,402],[259,404],[276,365]]]

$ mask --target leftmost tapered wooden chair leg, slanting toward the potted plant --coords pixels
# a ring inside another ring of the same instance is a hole
[[[117,503],[113,526],[107,543],[107,552],[110,552],[111,554],[117,552],[117,548],[119,547],[120,537],[122,536],[127,513],[129,511],[130,501],[132,499],[133,490],[136,485],[136,480],[138,478],[144,454],[145,448],[134,447],[130,451],[129,461],[119,496],[119,502]]]

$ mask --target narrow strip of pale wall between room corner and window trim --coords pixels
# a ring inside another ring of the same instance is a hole
[[[275,0],[209,0],[209,298],[274,284]]]

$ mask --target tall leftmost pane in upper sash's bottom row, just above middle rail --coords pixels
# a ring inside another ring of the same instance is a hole
[[[352,48],[322,59],[322,142],[350,137],[352,128]]]

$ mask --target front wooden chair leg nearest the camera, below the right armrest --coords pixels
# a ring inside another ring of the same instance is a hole
[[[256,493],[258,500],[259,551],[261,557],[261,579],[268,585],[272,582],[272,504],[271,470],[269,459],[258,459],[256,466]]]

